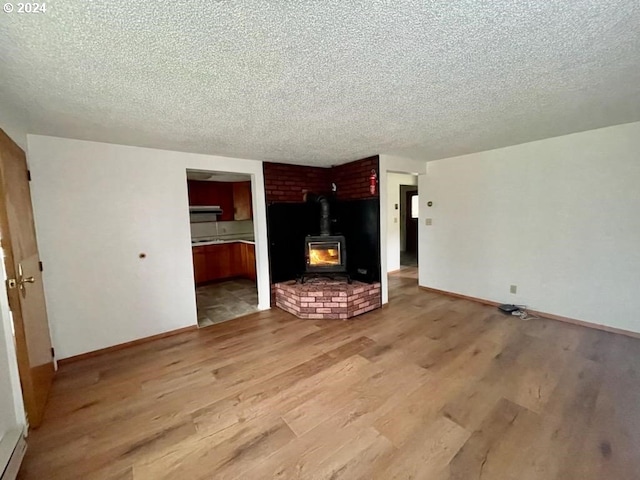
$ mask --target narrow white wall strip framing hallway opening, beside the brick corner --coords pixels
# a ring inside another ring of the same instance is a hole
[[[388,263],[388,247],[387,247],[387,227],[389,225],[388,211],[386,206],[389,204],[389,173],[410,173],[412,175],[424,175],[427,170],[427,163],[424,160],[415,160],[411,158],[398,157],[395,155],[380,155],[380,171],[378,172],[378,185],[380,188],[380,263],[382,270],[382,303],[389,303],[389,282],[387,272],[393,270],[387,265]],[[419,180],[418,180],[419,182]],[[420,183],[418,183],[420,185]],[[418,186],[418,189],[420,187]],[[419,190],[421,192],[421,190]],[[422,211],[420,212],[422,215]],[[418,228],[418,239],[421,235],[421,229]]]

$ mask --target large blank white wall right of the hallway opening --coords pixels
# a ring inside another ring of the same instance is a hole
[[[640,332],[640,123],[430,162],[423,185],[421,285]]]

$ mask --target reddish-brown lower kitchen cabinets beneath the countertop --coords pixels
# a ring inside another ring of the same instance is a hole
[[[255,246],[244,242],[192,248],[196,285],[227,278],[256,279]]]

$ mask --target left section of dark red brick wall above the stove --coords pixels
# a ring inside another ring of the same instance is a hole
[[[303,202],[303,191],[326,193],[329,191],[330,168],[263,163],[264,187],[267,203]]]

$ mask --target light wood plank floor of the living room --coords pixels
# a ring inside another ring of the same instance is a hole
[[[65,366],[20,478],[639,478],[640,341],[390,283]]]

